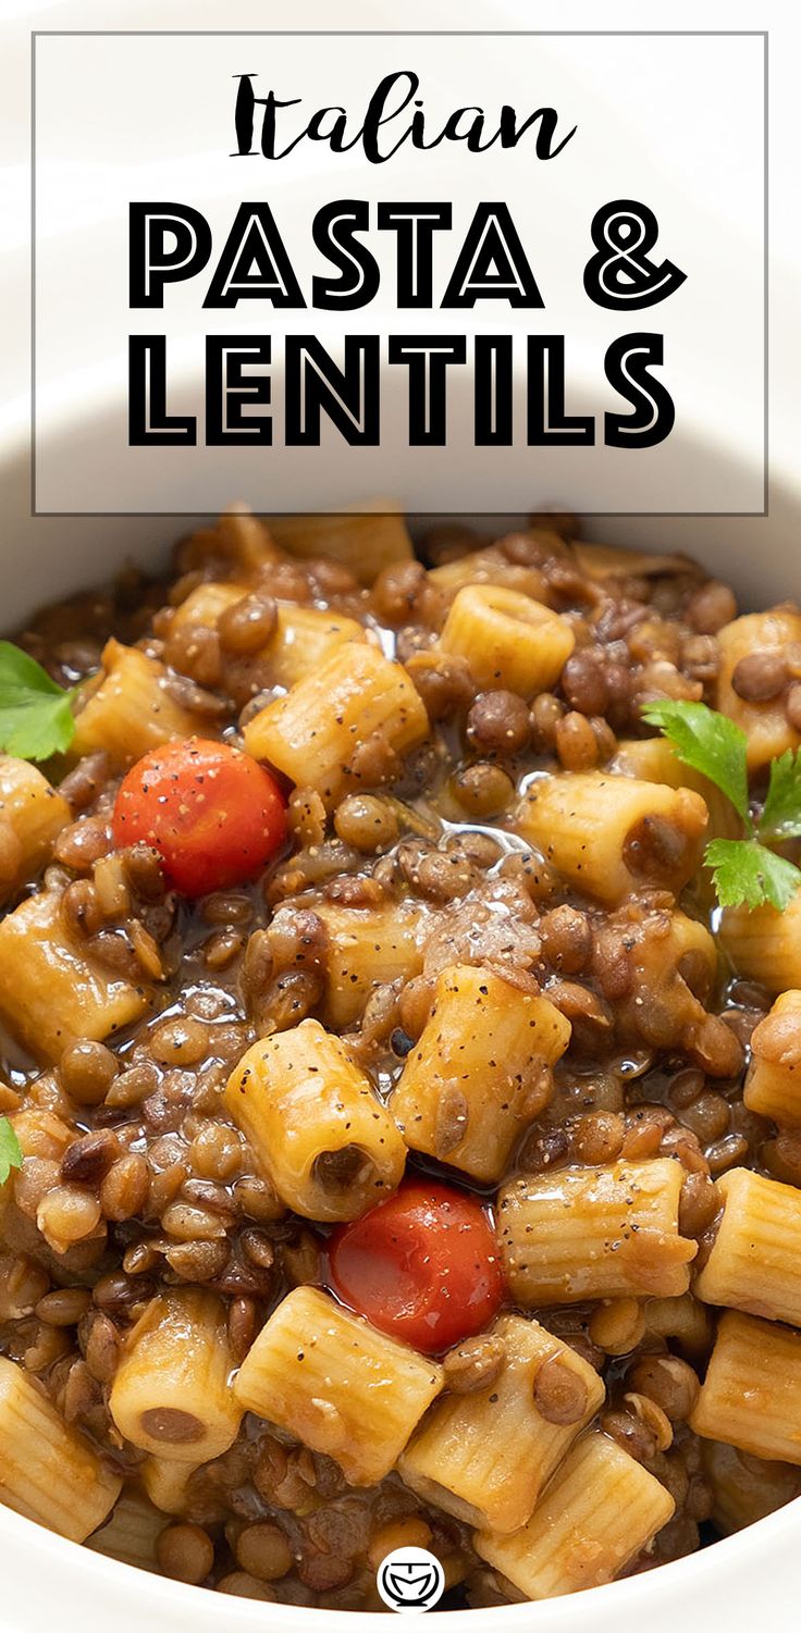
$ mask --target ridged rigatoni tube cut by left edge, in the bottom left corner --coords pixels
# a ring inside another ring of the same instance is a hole
[[[0,1357],[0,1502],[83,1542],[106,1519],[121,1484],[28,1373]]]

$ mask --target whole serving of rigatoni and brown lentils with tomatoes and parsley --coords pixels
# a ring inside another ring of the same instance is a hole
[[[363,1610],[794,1497],[801,612],[232,511],[0,660],[0,1499]]]

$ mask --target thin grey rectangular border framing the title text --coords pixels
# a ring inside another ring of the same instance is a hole
[[[593,516],[770,516],[770,314],[768,314],[768,274],[770,274],[770,165],[768,165],[768,29],[760,28],[39,28],[31,29],[31,516],[196,516],[198,511],[39,511],[36,509],[36,41],[38,39],[100,39],[100,38],[152,38],[152,39],[762,39],[762,90],[763,90],[763,178],[762,178],[762,345],[763,345],[763,449],[762,449],[762,509],[760,511],[585,511]],[[427,511],[427,516],[453,516],[456,508],[448,511]],[[294,511],[275,511],[276,516],[291,516]],[[311,514],[324,516],[325,511]],[[356,513],[361,514],[361,513]],[[472,511],[474,516],[499,516],[500,511]]]

